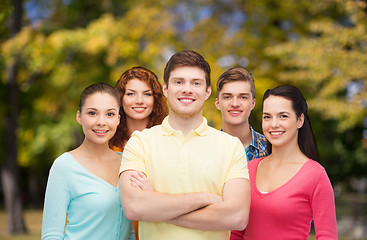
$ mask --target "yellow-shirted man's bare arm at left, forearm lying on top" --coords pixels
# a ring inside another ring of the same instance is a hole
[[[211,193],[166,194],[141,190],[131,184],[135,170],[121,173],[119,188],[124,213],[131,220],[160,222],[221,201]],[[136,173],[135,173],[136,174]]]

